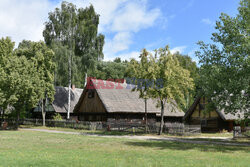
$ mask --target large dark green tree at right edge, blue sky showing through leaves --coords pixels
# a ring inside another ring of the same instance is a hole
[[[216,22],[212,44],[199,42],[196,54],[201,65],[201,88],[215,106],[226,113],[245,112],[250,108],[250,4],[242,0],[238,15],[222,13]]]

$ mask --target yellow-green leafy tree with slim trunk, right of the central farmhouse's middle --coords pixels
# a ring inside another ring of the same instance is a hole
[[[170,53],[168,46],[155,50],[155,56],[151,56],[150,69],[150,78],[153,79],[154,86],[149,88],[149,94],[158,99],[161,106],[159,130],[161,135],[165,103],[185,104],[185,94],[193,89],[194,83],[190,72],[181,67],[176,56]]]

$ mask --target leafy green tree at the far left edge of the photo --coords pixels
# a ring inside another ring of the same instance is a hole
[[[0,89],[3,96],[1,107],[6,110],[12,106],[16,110],[18,122],[20,112],[37,104],[40,98],[36,87],[40,85],[38,71],[34,68],[35,62],[25,56],[16,56],[13,51],[14,43],[9,38],[0,40],[1,78]]]

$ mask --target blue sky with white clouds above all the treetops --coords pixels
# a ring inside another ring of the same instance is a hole
[[[138,58],[141,49],[169,44],[194,60],[199,40],[211,42],[221,12],[237,14],[239,0],[69,0],[77,7],[94,5],[105,35],[105,60]],[[43,23],[61,0],[1,0],[0,37],[43,40]]]

